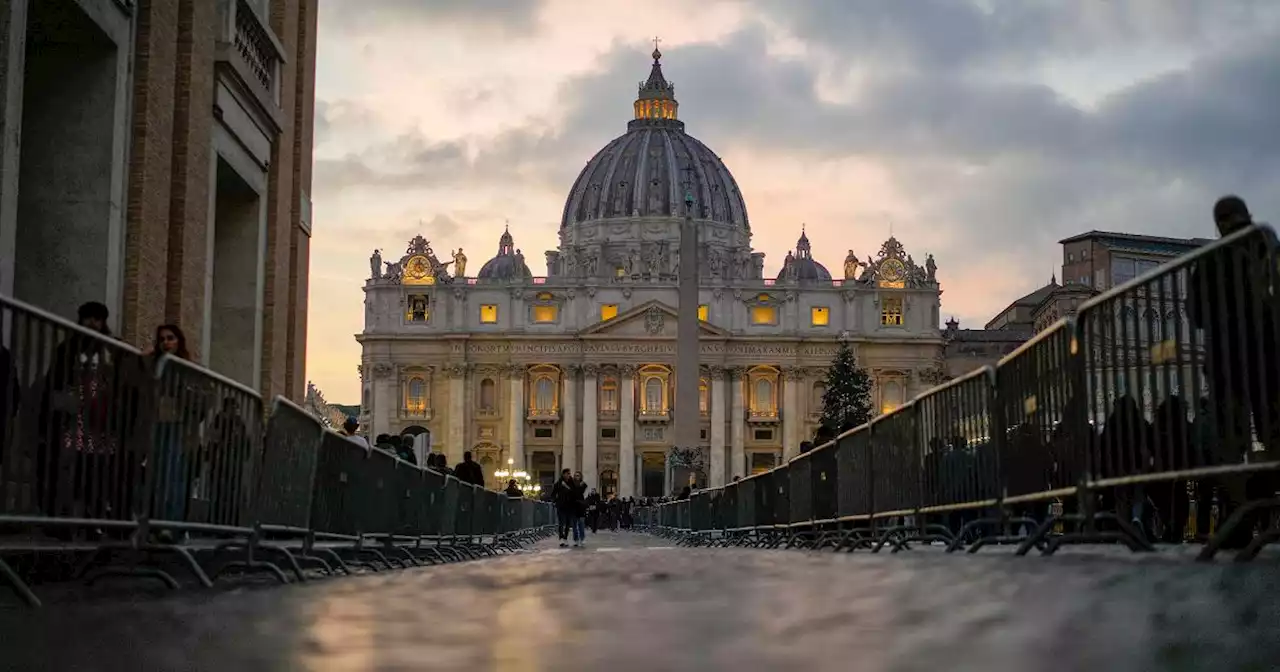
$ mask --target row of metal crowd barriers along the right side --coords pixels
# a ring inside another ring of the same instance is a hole
[[[1276,237],[1249,227],[1093,297],[995,367],[637,524],[698,544],[1190,541],[1248,559],[1280,539],[1277,334]]]

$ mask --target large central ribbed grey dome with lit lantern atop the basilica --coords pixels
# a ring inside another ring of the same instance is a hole
[[[746,202],[716,152],[685,133],[676,87],[662,74],[654,49],[649,79],[640,84],[635,118],[586,163],[564,202],[561,232],[579,223],[686,215],[750,232]]]

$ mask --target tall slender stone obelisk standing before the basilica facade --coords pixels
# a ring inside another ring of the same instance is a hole
[[[685,221],[680,229],[680,283],[676,293],[676,436],[675,447],[696,449],[698,434],[698,228],[694,224],[691,168],[685,169]],[[677,490],[684,484],[672,484]]]

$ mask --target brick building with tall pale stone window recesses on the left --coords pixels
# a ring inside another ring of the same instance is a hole
[[[0,293],[301,399],[316,0],[0,3]],[[216,329],[215,329],[216,325]]]

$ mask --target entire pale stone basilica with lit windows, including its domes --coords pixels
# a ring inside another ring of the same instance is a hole
[[[701,448],[684,466],[700,483],[799,452],[841,340],[882,411],[945,378],[933,257],[918,265],[890,238],[865,259],[850,251],[833,278],[801,232],[765,278],[746,201],[685,132],[660,56],[627,132],[573,183],[544,274],[509,230],[474,274],[463,251],[436,255],[422,237],[403,255],[374,252],[357,335],[369,434],[429,431],[451,465],[471,451],[490,483],[509,463],[544,486],[568,467],[607,494],[669,494],[686,221],[698,230]]]

